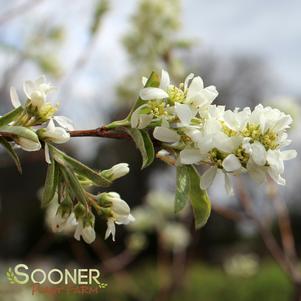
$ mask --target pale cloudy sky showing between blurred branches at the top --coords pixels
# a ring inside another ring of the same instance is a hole
[[[0,16],[27,1],[0,0]],[[72,69],[87,43],[89,18],[95,2],[66,0],[63,10],[61,3],[60,0],[40,0],[39,5],[0,26],[0,39],[22,44],[24,37],[37,24],[45,20],[53,24],[63,23],[67,29],[67,41],[60,50],[61,63],[66,70]],[[129,28],[129,18],[137,3],[137,0],[111,0],[111,10],[104,20],[89,62],[76,74],[77,83],[72,86],[72,97],[81,94],[93,102],[102,87],[108,98],[113,97],[115,84],[126,74],[129,66],[120,41]],[[196,40],[200,49],[209,49],[220,56],[262,57],[281,83],[275,93],[301,94],[300,1],[184,0],[182,7],[183,29],[180,36]]]

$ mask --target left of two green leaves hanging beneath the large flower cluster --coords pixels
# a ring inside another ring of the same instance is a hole
[[[185,207],[189,200],[190,181],[186,165],[177,167],[176,184],[175,213],[178,213]]]

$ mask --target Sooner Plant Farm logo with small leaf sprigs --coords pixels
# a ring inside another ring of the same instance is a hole
[[[32,285],[32,294],[97,294],[107,287],[98,269],[30,269],[26,264],[9,267],[6,277],[11,284]]]

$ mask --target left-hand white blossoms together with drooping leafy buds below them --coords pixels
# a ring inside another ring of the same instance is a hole
[[[26,101],[22,104],[14,87],[10,90],[14,109],[0,117],[0,144],[18,169],[21,164],[13,145],[25,151],[45,150],[48,163],[42,206],[48,208],[47,221],[54,232],[74,232],[74,238],[92,243],[95,238],[95,213],[107,222],[105,238],[115,240],[115,224],[134,221],[130,208],[116,192],[90,193],[92,187],[109,187],[113,181],[129,172],[126,163],[95,171],[57,149],[70,139],[73,130],[70,119],[55,115],[58,105],[48,101],[54,87],[44,76],[23,85]]]

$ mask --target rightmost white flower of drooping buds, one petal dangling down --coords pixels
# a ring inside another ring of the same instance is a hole
[[[105,239],[112,235],[113,241],[115,241],[115,223],[118,225],[127,225],[133,222],[135,219],[131,215],[131,209],[129,205],[120,198],[120,195],[116,192],[108,192],[105,195],[107,201],[111,202],[111,214],[112,216],[107,220],[107,231]]]

